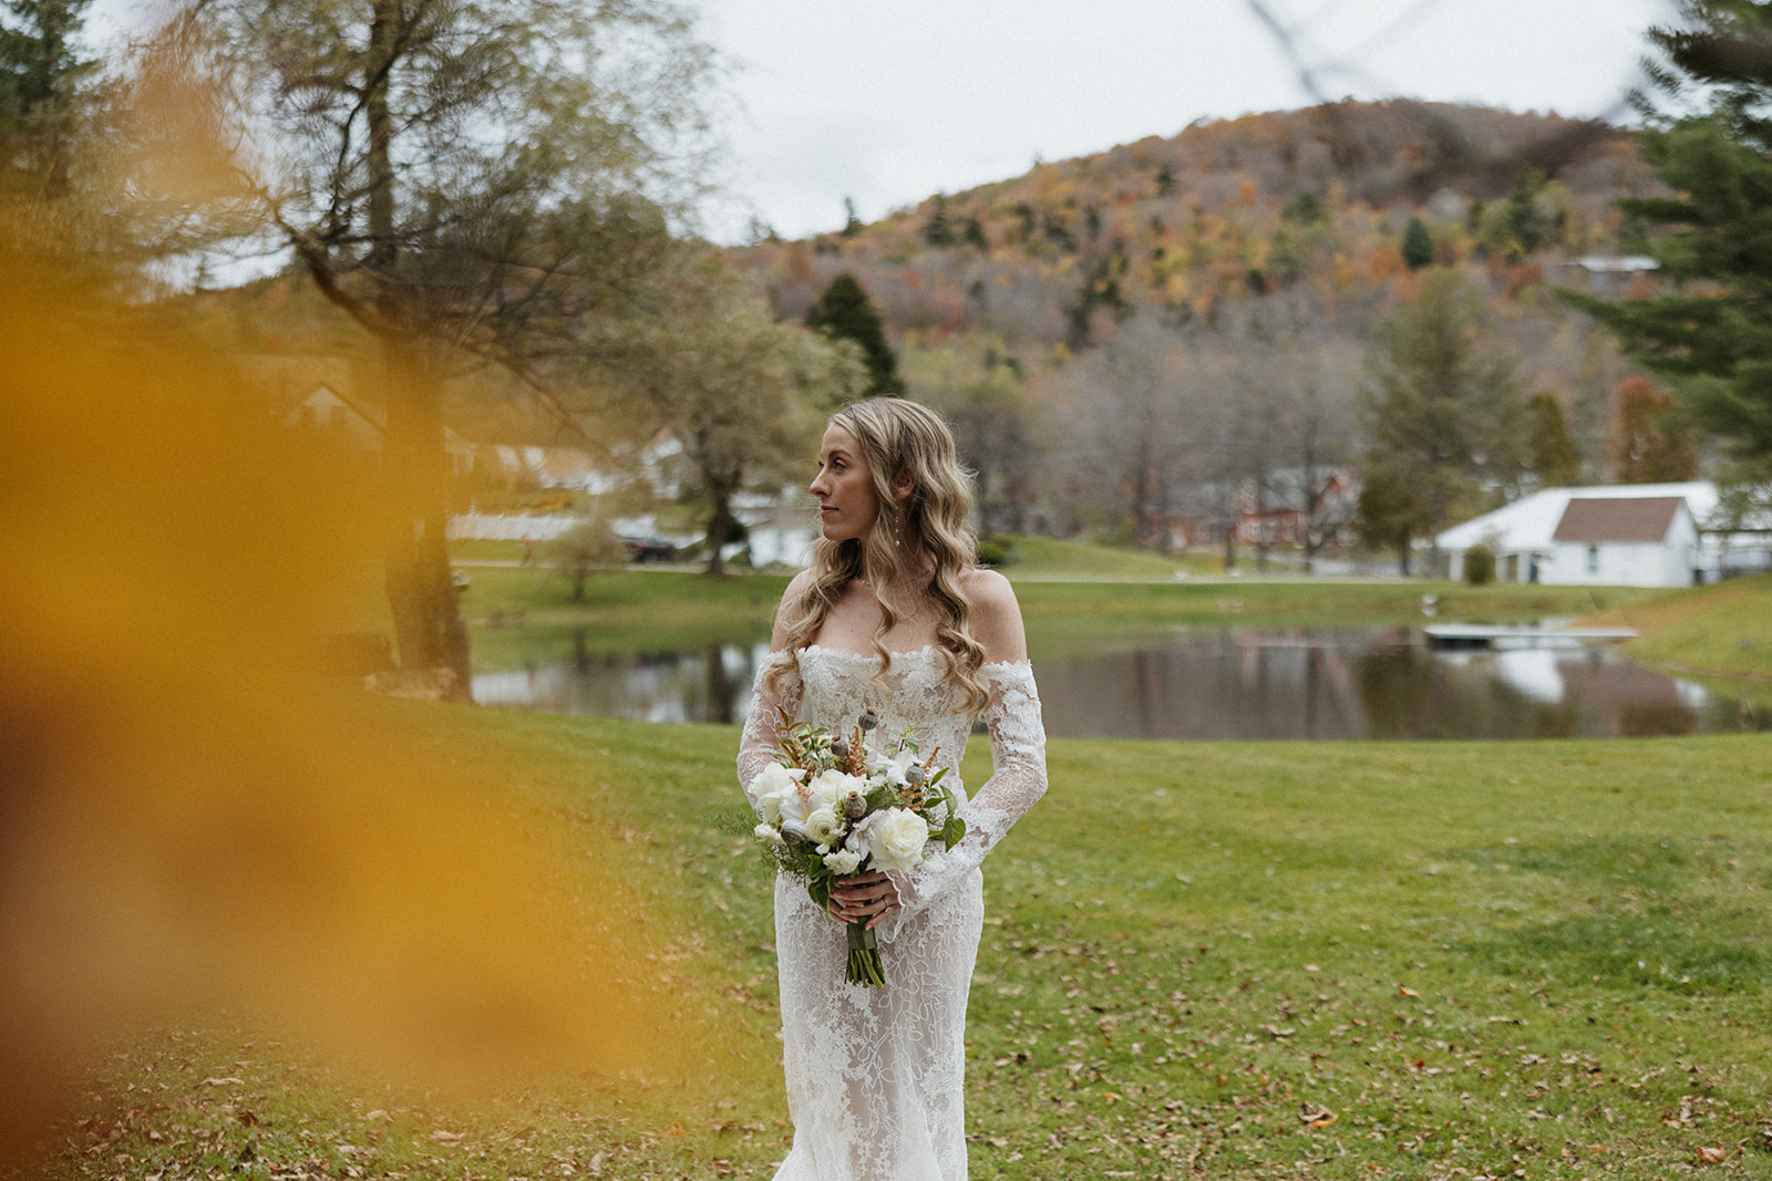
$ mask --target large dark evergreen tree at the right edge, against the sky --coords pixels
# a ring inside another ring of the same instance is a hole
[[[1689,0],[1685,28],[1653,28],[1671,117],[1639,96],[1641,158],[1673,197],[1620,202],[1650,230],[1664,294],[1605,303],[1563,292],[1669,377],[1694,421],[1772,475],[1772,2]],[[1660,230],[1659,234],[1655,230]]]

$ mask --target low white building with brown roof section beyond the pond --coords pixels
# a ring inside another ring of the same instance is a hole
[[[1496,579],[1549,586],[1690,586],[1719,575],[1719,547],[1701,529],[1717,485],[1623,483],[1543,489],[1453,526],[1435,542],[1451,579],[1476,544],[1496,552]]]

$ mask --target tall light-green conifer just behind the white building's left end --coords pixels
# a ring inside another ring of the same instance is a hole
[[[1363,393],[1366,466],[1395,475],[1396,492],[1416,501],[1387,515],[1430,538],[1455,508],[1517,476],[1524,402],[1513,358],[1481,338],[1480,312],[1481,296],[1457,271],[1435,269],[1421,296],[1377,328]]]

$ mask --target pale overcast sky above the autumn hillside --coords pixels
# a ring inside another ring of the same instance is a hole
[[[734,67],[707,232],[787,237],[1317,96],[1625,120],[1675,0],[702,0]],[[1276,28],[1278,27],[1278,28]],[[1283,30],[1283,34],[1279,32]],[[1310,83],[1306,83],[1306,76]]]

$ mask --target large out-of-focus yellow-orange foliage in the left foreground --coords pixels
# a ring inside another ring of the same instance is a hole
[[[427,1087],[670,1071],[631,926],[583,930],[503,807],[315,676],[361,487],[165,312],[5,227],[0,271],[0,1169],[83,1054],[214,1004]]]

